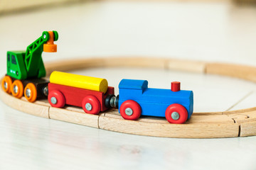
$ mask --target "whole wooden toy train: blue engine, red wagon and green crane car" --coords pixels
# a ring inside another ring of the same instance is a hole
[[[1,81],[6,93],[16,98],[25,96],[29,102],[48,98],[53,107],[78,106],[90,114],[118,108],[127,120],[149,115],[165,117],[169,123],[185,123],[191,117],[193,91],[180,90],[178,81],[171,83],[170,90],[150,89],[146,80],[122,79],[115,96],[106,79],[56,71],[50,74],[50,82],[41,79],[46,76],[42,52],[56,52],[56,40],[57,31],[44,31],[26,52],[7,52],[7,74]]]

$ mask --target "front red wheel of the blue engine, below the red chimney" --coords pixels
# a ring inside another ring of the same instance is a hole
[[[188,111],[186,108],[180,104],[171,104],[168,108],[166,108],[166,120],[169,123],[181,124],[185,123],[188,119]]]

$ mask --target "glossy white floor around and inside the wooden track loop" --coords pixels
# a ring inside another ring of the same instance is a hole
[[[58,30],[58,52],[77,57],[176,57],[256,66],[256,8],[228,3],[97,2],[0,16],[0,72],[6,51],[26,50],[43,30]],[[88,69],[116,87],[122,78],[193,90],[194,110],[255,106],[255,84],[158,69]],[[241,101],[242,100],[242,101]],[[240,102],[238,102],[240,101]],[[14,103],[15,104],[15,103]],[[0,103],[0,169],[255,169],[256,137],[170,139],[108,132],[38,118]]]

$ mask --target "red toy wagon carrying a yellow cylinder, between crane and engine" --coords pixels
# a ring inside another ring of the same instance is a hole
[[[73,81],[74,84],[72,84]],[[113,105],[110,104],[110,101],[113,101],[111,98],[115,98],[114,87],[105,86],[106,84],[105,79],[53,72],[48,84],[48,101],[56,108],[63,108],[65,104],[68,104],[82,107],[85,113],[98,114],[110,108]]]

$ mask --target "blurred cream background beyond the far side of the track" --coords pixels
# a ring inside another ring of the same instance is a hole
[[[255,0],[0,1],[1,57],[43,30],[60,35],[45,61],[132,55],[253,64],[256,55]]]

